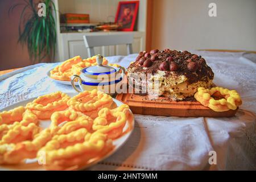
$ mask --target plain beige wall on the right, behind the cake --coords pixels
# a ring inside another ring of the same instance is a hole
[[[256,50],[255,0],[154,0],[152,24],[152,48]]]

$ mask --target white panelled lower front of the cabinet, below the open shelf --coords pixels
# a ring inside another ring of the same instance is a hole
[[[145,49],[144,32],[135,31],[133,42],[133,53],[138,53]],[[86,34],[123,34],[123,32],[90,32],[90,33],[63,33],[60,34],[61,44],[59,45],[59,61],[67,60],[71,57],[80,55],[83,59],[88,57],[84,45],[83,35]],[[102,56],[127,55],[126,45],[96,47],[95,53]]]

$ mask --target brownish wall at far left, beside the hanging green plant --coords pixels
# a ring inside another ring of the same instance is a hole
[[[18,44],[18,25],[21,7],[16,8],[8,15],[9,8],[13,3],[20,1],[0,1],[0,71],[11,68],[25,67],[30,64],[26,47]]]

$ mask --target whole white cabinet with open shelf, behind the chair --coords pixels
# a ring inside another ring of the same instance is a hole
[[[123,34],[124,32],[69,32],[61,33],[60,31],[60,13],[88,13],[92,23],[108,22],[114,20],[117,12],[118,2],[122,0],[53,0],[56,6],[56,30],[57,30],[57,49],[56,61],[64,61],[73,56],[80,55],[87,58],[88,53],[82,39],[86,34]],[[112,19],[109,19],[112,17]],[[147,0],[139,1],[139,11],[137,19],[137,28],[133,31],[133,53],[146,49],[146,17],[147,17]],[[126,32],[125,32],[126,33]],[[96,54],[103,56],[126,55],[127,48],[125,45],[105,46],[95,48]]]

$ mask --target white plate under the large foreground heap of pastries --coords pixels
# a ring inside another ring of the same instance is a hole
[[[67,94],[70,97],[73,97],[76,95],[75,93],[67,93]],[[35,98],[31,98],[31,99],[28,99],[25,101],[18,102],[11,106],[5,107],[4,109],[1,109],[0,112],[2,112],[4,110],[11,110],[18,106],[25,106],[28,102],[31,102],[33,100],[35,100]],[[120,106],[123,104],[122,102],[120,102],[114,98],[113,98],[113,100],[114,100],[115,104],[117,104],[117,106]],[[40,126],[43,128],[46,128],[50,125],[50,123],[51,123],[50,120],[40,121]],[[127,129],[127,127],[129,127],[128,122],[126,122],[126,125],[123,128],[123,131],[125,131]],[[105,156],[103,156],[100,159],[93,160],[93,162],[87,164],[86,166],[81,167],[80,169],[88,168],[88,167],[92,166],[93,164],[101,162],[102,160],[108,158],[110,155],[114,154],[114,152],[116,152],[119,148],[121,148],[123,146],[123,144],[125,144],[127,139],[129,139],[131,133],[133,132],[133,129],[134,129],[134,119],[131,122],[131,130],[129,130],[125,135],[122,135],[122,137],[119,137],[118,139],[113,140],[114,149],[112,151],[110,151],[108,154],[106,154]],[[9,171],[9,170],[45,170],[45,169],[43,168],[43,166],[40,166],[38,164],[38,161],[36,159],[27,159],[24,164],[2,165],[2,166],[0,165],[0,171]]]

